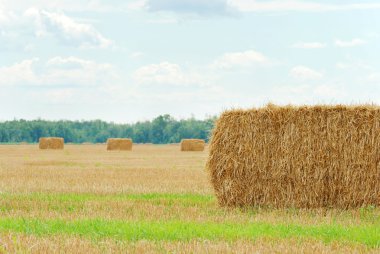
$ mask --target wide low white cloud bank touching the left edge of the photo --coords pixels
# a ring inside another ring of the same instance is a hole
[[[43,63],[39,59],[27,59],[0,68],[0,85],[36,86],[105,86],[117,80],[110,64],[99,64],[76,57],[54,57]]]

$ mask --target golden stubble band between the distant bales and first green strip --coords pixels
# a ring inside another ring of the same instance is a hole
[[[77,193],[211,194],[207,150],[181,153],[177,145],[66,145],[43,151],[36,145],[0,146],[0,191]]]

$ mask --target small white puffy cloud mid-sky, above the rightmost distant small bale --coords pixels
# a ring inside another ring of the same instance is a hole
[[[171,84],[179,86],[198,83],[200,81],[197,74],[185,73],[178,64],[169,62],[143,66],[135,71],[134,79],[138,83]]]

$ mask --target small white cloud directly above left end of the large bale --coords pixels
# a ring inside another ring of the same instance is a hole
[[[232,52],[226,53],[211,65],[213,68],[230,69],[234,67],[251,67],[255,64],[266,65],[271,61],[254,50],[248,50],[244,52]]]

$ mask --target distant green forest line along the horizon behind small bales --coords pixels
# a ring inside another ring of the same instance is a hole
[[[152,121],[116,124],[93,121],[13,120],[0,122],[1,143],[36,143],[40,137],[63,137],[66,143],[104,143],[107,138],[132,138],[135,143],[178,143],[183,138],[208,141],[216,117],[176,120],[161,115]]]

